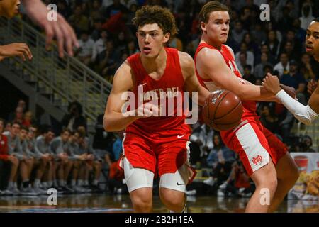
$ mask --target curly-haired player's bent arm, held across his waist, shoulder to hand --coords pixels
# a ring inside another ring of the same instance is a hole
[[[141,104],[138,108],[127,111],[125,102],[128,101],[128,97],[133,99],[131,100],[133,103],[135,99],[138,99],[138,97],[128,96],[130,90],[133,90],[133,72],[128,62],[125,61],[116,71],[112,91],[108,96],[103,117],[103,127],[106,131],[122,131],[138,118],[159,116],[158,106],[150,103]]]

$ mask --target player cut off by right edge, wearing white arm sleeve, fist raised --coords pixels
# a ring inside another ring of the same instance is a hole
[[[315,18],[308,26],[306,35],[306,52],[313,55],[315,60],[319,62],[319,18]],[[263,81],[264,87],[272,94],[280,99],[281,103],[286,106],[289,111],[302,123],[311,124],[319,114],[319,88],[318,84],[311,84],[309,90],[312,92],[311,86],[315,85],[313,94],[311,94],[307,106],[303,106],[296,99],[287,95],[279,86],[279,79],[276,76],[268,74]]]

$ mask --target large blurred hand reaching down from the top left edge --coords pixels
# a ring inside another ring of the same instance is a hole
[[[73,56],[73,48],[79,48],[79,43],[77,35],[65,18],[57,13],[57,21],[49,21],[47,6],[40,0],[23,0],[23,6],[28,16],[45,30],[45,47],[49,49],[53,38],[56,38],[59,56],[64,57],[64,48],[70,56]]]

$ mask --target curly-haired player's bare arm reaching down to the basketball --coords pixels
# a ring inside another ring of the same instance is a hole
[[[205,99],[211,92],[198,82],[193,58],[186,52],[179,52],[179,62],[181,64],[181,72],[185,79],[184,89],[187,92],[198,92],[198,104],[203,106]]]

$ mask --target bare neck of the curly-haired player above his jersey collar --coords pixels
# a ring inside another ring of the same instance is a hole
[[[165,48],[162,48],[157,56],[148,58],[141,55],[140,60],[147,72],[157,72],[162,69],[163,66],[166,67],[167,53]]]

